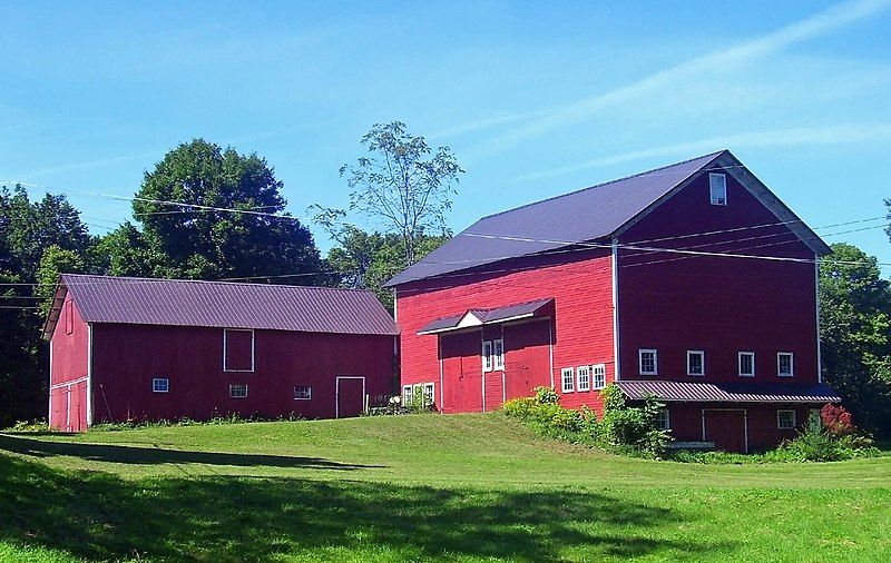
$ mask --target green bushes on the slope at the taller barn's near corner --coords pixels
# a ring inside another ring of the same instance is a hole
[[[668,432],[658,427],[657,416],[665,405],[648,398],[643,406],[630,407],[619,388],[608,385],[603,391],[604,417],[597,421],[594,411],[564,408],[550,387],[536,387],[533,397],[505,403],[505,414],[520,419],[538,434],[567,442],[590,444],[604,450],[660,457],[670,443]]]

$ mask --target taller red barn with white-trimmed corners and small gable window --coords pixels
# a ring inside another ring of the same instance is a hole
[[[822,385],[829,247],[730,151],[484,217],[389,282],[403,394],[498,408],[538,385],[656,395],[678,441],[766,448]]]

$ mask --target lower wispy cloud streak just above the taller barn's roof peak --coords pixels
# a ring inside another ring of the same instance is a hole
[[[723,148],[783,148],[844,145],[883,140],[891,140],[891,124],[838,125],[826,127],[799,127],[790,129],[748,131],[594,158],[584,162],[527,174],[518,177],[516,181],[551,178],[588,168],[618,165],[631,160],[640,160],[644,158],[676,156],[689,157],[691,155],[704,155],[715,150],[721,150]]]

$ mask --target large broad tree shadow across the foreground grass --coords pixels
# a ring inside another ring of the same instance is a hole
[[[9,515],[0,541],[101,560],[684,559],[732,547],[660,539],[683,522],[679,514],[597,493],[281,477],[127,481],[2,454],[0,513]]]

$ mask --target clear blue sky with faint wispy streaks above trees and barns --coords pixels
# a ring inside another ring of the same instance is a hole
[[[467,169],[456,230],[721,148],[812,227],[891,197],[891,1],[251,4],[0,3],[0,180],[104,233],[129,204],[88,192],[204,137],[264,156],[302,216],[399,119]],[[891,263],[883,223],[819,233]]]

